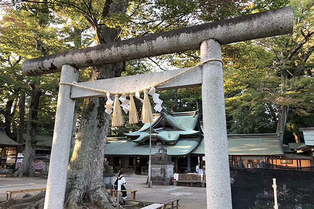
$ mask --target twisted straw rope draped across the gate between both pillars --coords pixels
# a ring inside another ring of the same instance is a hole
[[[208,60],[203,61],[203,62],[200,62],[200,63],[198,63],[197,65],[195,65],[195,66],[193,66],[193,67],[191,67],[191,68],[188,68],[188,69],[186,69],[186,70],[184,70],[184,71],[182,71],[182,72],[180,72],[180,73],[178,73],[178,74],[176,74],[176,75],[174,75],[174,76],[172,76],[172,77],[170,77],[170,78],[167,78],[167,79],[165,79],[165,80],[163,80],[163,81],[160,81],[160,82],[158,82],[158,83],[156,83],[156,84],[154,84],[154,85],[152,85],[152,86],[149,86],[149,87],[146,87],[146,88],[143,88],[143,89],[139,89],[139,90],[135,90],[135,91],[131,91],[131,92],[112,92],[112,91],[106,91],[106,90],[101,90],[101,89],[95,89],[95,88],[91,88],[91,87],[80,86],[80,85],[75,84],[75,83],[59,83],[59,85],[77,86],[77,87],[80,87],[80,88],[83,88],[83,89],[93,90],[93,91],[96,91],[96,92],[110,93],[110,94],[118,94],[118,95],[122,95],[122,94],[134,94],[134,93],[136,93],[136,92],[142,93],[142,92],[144,92],[144,91],[150,90],[152,87],[157,87],[157,86],[164,85],[164,84],[168,83],[169,81],[171,81],[172,79],[174,79],[174,78],[176,78],[176,77],[178,77],[178,76],[184,74],[185,72],[188,72],[188,71],[190,71],[190,70],[192,70],[192,69],[194,69],[194,68],[197,68],[197,67],[199,67],[199,66],[201,66],[201,65],[204,65],[205,63],[208,63],[208,62],[210,62],[210,61],[219,61],[219,62],[221,62],[221,63],[223,64],[222,60],[220,60],[220,59],[208,59]]]

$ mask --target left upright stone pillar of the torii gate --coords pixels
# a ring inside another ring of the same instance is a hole
[[[68,65],[63,66],[60,82],[72,83],[74,81],[78,81],[78,69]],[[70,86],[59,87],[45,209],[61,209],[64,204],[75,106],[75,100],[70,98],[70,93]]]

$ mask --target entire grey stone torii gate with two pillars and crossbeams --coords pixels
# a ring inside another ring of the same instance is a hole
[[[181,28],[130,40],[86,47],[26,60],[22,68],[34,76],[61,71],[60,83],[78,82],[78,69],[191,49],[201,61],[221,60],[221,45],[292,33],[291,7]],[[132,91],[162,81],[180,70],[78,83],[107,91]],[[231,209],[231,185],[222,63],[210,61],[156,88],[157,91],[202,86],[207,208]],[[76,86],[60,85],[55,116],[45,209],[63,209],[75,99],[105,96]]]

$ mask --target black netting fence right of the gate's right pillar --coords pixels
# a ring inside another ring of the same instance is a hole
[[[262,163],[259,168],[230,167],[233,209],[249,209],[257,195],[272,189],[273,178],[277,187],[293,191],[314,191],[314,166],[287,167]]]

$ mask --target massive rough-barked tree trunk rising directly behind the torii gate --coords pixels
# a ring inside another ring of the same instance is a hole
[[[116,29],[104,25],[102,31],[107,38],[98,44],[116,40]],[[90,80],[118,77],[124,69],[124,63],[93,67]],[[110,116],[105,113],[105,102],[104,97],[84,100],[75,148],[68,168],[65,202],[69,209],[77,208],[83,200],[88,200],[101,209],[113,209],[115,205],[103,183],[105,143],[110,121]]]

